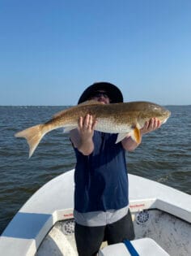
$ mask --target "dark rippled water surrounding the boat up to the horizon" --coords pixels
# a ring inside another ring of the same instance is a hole
[[[14,133],[47,121],[63,106],[0,106],[0,233],[23,203],[47,181],[74,168],[74,152],[62,129],[49,132],[32,158],[25,140]],[[172,111],[159,130],[146,134],[127,153],[129,173],[191,194],[191,106]]]

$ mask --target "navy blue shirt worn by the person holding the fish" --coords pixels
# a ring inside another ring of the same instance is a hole
[[[125,150],[115,144],[117,134],[94,132],[94,151],[85,156],[74,149],[74,209],[91,211],[118,210],[128,206],[128,176]]]

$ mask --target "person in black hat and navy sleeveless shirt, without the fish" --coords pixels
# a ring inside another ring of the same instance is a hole
[[[85,89],[78,104],[90,100],[112,104],[123,102],[123,95],[116,85],[100,82]],[[111,245],[134,239],[125,151],[135,150],[143,134],[161,125],[159,119],[151,118],[139,130],[134,128],[138,134],[138,140],[134,140],[129,134],[119,138],[116,133],[97,131],[98,122],[88,113],[80,116],[78,128],[70,131],[77,159],[74,219],[79,256],[96,255],[103,241]]]

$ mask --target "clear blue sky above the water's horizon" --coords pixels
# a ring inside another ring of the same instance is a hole
[[[191,1],[1,0],[0,73],[0,105],[74,105],[103,80],[191,104]]]

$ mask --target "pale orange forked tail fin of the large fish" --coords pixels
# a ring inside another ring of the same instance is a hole
[[[29,145],[29,158],[31,158],[32,154],[36,150],[37,145],[39,145],[42,137],[44,137],[45,133],[43,131],[44,124],[38,124],[32,126],[31,128],[27,128],[21,132],[15,133],[15,137],[23,137],[28,141]]]

